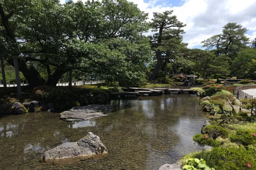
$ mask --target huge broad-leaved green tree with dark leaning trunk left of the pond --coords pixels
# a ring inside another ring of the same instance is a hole
[[[13,47],[19,47],[19,70],[33,87],[56,85],[70,70],[112,81],[141,79],[150,45],[147,14],[126,0],[0,1],[0,54],[13,65]],[[4,23],[8,28],[3,28]],[[8,38],[15,42],[9,42]],[[41,70],[47,74],[40,74]]]

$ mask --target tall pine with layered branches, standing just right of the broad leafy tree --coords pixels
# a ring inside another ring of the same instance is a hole
[[[173,11],[164,11],[163,13],[154,12],[152,22],[150,26],[153,32],[156,32],[152,36],[149,36],[152,50],[155,53],[154,60],[156,65],[152,74],[149,75],[149,79],[156,79],[158,71],[168,62],[168,59],[172,59],[175,55],[175,51],[182,45],[182,36],[184,34],[183,27],[186,24],[177,20],[175,15],[172,15]],[[184,44],[183,44],[184,46]],[[164,65],[163,65],[163,61]]]

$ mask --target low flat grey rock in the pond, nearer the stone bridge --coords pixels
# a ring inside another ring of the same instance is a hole
[[[68,111],[62,112],[60,114],[60,118],[67,121],[83,121],[106,116],[104,115],[104,113],[108,113],[111,111],[112,108],[108,105],[78,106]]]

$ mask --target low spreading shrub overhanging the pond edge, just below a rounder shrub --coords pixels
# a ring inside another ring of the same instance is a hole
[[[195,136],[193,136],[193,141],[197,142],[199,146],[208,145],[212,147],[218,147],[221,145],[221,142],[210,139],[208,135],[204,135],[201,133],[195,134]]]

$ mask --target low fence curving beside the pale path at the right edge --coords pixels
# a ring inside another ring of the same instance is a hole
[[[250,94],[247,94],[247,93],[243,92],[243,90],[252,89],[252,88],[256,88],[256,84],[240,85],[240,86],[237,86],[234,89],[233,94],[239,100],[241,100],[241,99],[253,99],[253,98],[256,98],[256,96],[252,96]]]

